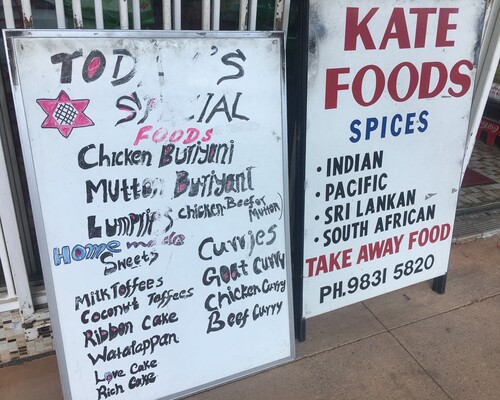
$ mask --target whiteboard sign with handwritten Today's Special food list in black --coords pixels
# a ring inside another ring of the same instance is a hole
[[[65,396],[290,360],[282,35],[6,40]]]

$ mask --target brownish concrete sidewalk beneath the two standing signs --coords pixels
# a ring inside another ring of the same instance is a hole
[[[0,368],[0,399],[62,399],[55,356]],[[190,399],[500,399],[500,236],[453,246],[444,295],[423,282],[310,319],[294,362]]]

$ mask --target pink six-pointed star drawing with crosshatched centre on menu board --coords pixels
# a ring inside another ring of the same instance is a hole
[[[61,90],[56,99],[38,99],[36,102],[47,114],[42,128],[56,128],[65,138],[68,138],[73,128],[94,125],[83,113],[90,100],[71,100],[68,94]]]

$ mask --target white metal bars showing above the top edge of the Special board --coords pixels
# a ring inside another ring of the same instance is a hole
[[[289,11],[290,0],[3,0],[1,22],[28,29],[286,30]]]

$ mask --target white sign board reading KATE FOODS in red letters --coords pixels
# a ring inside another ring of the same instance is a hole
[[[310,1],[303,314],[446,273],[484,1]]]

